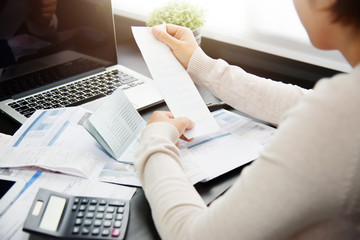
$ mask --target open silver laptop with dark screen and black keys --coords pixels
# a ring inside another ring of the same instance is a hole
[[[95,111],[117,88],[139,111],[163,102],[152,79],[118,64],[111,0],[59,0],[45,26],[27,3],[0,6],[1,111],[19,123],[38,109]]]

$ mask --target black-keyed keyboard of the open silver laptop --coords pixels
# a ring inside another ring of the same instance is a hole
[[[78,106],[110,95],[119,87],[125,90],[143,83],[144,81],[119,70],[111,70],[56,89],[19,99],[8,105],[28,118],[38,109]]]

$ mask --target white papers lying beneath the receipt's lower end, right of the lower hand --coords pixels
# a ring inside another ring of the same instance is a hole
[[[180,162],[193,184],[255,160],[276,130],[224,109],[212,114],[220,126],[218,132],[179,145]]]

